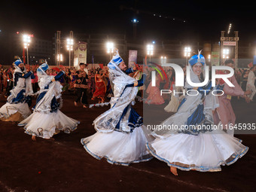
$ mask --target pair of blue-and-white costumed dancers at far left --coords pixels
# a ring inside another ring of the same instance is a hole
[[[35,140],[36,136],[50,139],[60,131],[70,133],[75,130],[79,121],[59,111],[62,105],[62,85],[59,79],[65,74],[64,70],[56,76],[51,76],[49,66],[43,63],[37,69],[40,90],[33,93],[33,72],[26,69],[20,59],[14,62],[14,66],[14,88],[6,104],[0,108],[1,120],[20,122],[18,126],[24,126],[25,132],[32,135],[32,140]],[[29,105],[32,103],[32,96],[36,94],[38,97],[31,114]]]

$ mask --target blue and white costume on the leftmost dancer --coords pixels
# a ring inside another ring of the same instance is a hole
[[[14,62],[14,88],[10,91],[7,103],[0,108],[0,118],[6,121],[20,121],[29,117],[31,111],[31,96],[33,95],[31,77],[33,72],[26,72],[26,68],[20,69],[23,63],[20,59]],[[12,116],[19,113],[20,115]]]

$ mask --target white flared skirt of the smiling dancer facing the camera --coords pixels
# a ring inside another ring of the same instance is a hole
[[[198,136],[178,133],[166,139],[148,142],[147,148],[158,160],[181,170],[221,171],[221,165],[235,163],[247,151],[241,140],[227,133],[200,133]]]

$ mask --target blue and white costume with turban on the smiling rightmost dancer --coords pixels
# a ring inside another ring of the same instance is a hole
[[[189,63],[190,80],[200,83],[192,66],[201,63],[206,69],[203,55],[192,56]],[[186,81],[185,88],[190,90],[196,87],[191,87]],[[206,91],[206,96],[203,90],[209,90]],[[177,113],[160,124],[162,128],[169,126],[169,129],[154,130],[152,135],[156,139],[154,142],[148,142],[147,148],[158,160],[177,169],[186,171],[194,169],[200,172],[221,171],[221,165],[236,162],[248,151],[248,147],[223,130],[211,128],[214,124],[212,111],[218,107],[218,96],[213,96],[211,93],[211,81],[205,87],[197,87],[197,91],[199,92],[197,96],[186,95]],[[203,125],[205,127],[208,125],[208,128],[200,129]]]

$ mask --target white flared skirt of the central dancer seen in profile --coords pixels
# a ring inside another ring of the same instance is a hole
[[[81,144],[98,160],[105,157],[108,163],[129,166],[130,163],[148,161],[152,158],[145,146],[150,139],[142,129],[144,126],[136,127],[133,133],[97,132],[93,136],[81,139]]]

